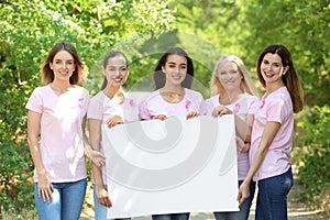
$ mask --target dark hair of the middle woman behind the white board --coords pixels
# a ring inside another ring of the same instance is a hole
[[[154,87],[155,90],[163,88],[166,81],[165,74],[162,72],[162,67],[165,66],[167,62],[167,57],[169,55],[179,55],[184,56],[187,59],[187,75],[185,80],[182,82],[183,87],[185,88],[191,88],[193,80],[194,80],[194,64],[193,59],[188,56],[188,54],[180,47],[173,47],[169,48],[167,52],[165,52],[162,57],[160,58],[157,66],[154,72]]]

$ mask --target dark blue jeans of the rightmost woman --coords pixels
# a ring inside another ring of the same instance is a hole
[[[287,220],[287,194],[294,185],[293,172],[258,180],[256,220]]]

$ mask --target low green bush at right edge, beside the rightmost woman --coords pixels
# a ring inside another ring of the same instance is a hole
[[[304,132],[299,135],[299,143],[306,146],[298,163],[299,183],[306,189],[301,198],[320,205],[321,191],[330,188],[330,108],[315,106],[301,117],[306,118],[298,123]]]

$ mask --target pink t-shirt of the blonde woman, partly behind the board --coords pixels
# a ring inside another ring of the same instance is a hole
[[[208,100],[206,100],[204,106],[204,114],[212,114],[212,111],[216,107],[218,107],[220,95],[216,95]],[[248,114],[255,114],[258,107],[260,100],[257,97],[244,94],[237,102],[226,106],[233,113],[235,113],[242,121],[246,121]],[[246,177],[246,174],[250,168],[249,163],[249,152],[241,152],[238,148],[238,174],[239,180],[243,180]]]

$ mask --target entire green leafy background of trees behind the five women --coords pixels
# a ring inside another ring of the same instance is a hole
[[[307,148],[299,158],[299,175],[306,198],[317,198],[311,195],[321,190],[318,185],[329,183],[327,169],[321,173],[322,167],[329,169],[329,111],[323,107],[330,94],[329,14],[328,0],[1,1],[0,204],[4,209],[33,205],[32,185],[26,184],[33,163],[24,106],[40,86],[40,67],[58,41],[76,46],[91,95],[99,91],[101,62],[109,51],[129,56],[128,89],[151,90],[151,74],[161,54],[182,46],[194,59],[197,89],[208,97],[211,72],[221,55],[240,56],[257,81],[254,69],[261,50],[273,43],[286,45],[307,105],[319,106],[299,118],[300,148]]]

